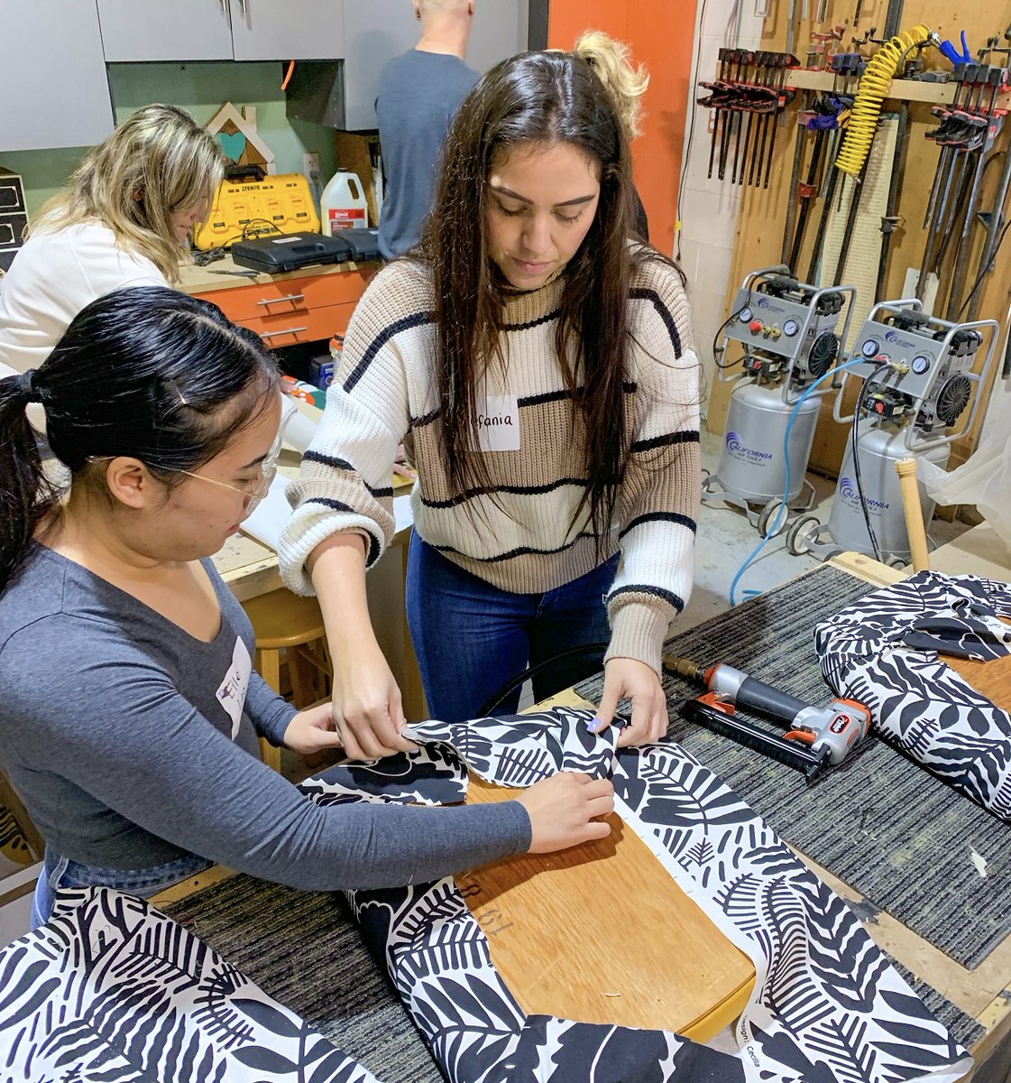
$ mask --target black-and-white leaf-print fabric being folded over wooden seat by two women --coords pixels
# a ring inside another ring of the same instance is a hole
[[[948,1083],[964,1074],[966,1051],[849,906],[736,794],[672,742],[616,751],[615,731],[590,733],[590,717],[555,708],[417,723],[406,731],[421,746],[410,760],[422,771],[435,757],[449,764],[437,751],[448,742],[500,785],[560,770],[610,774],[625,822],[754,964],[754,992],[735,1027],[739,1055],[666,1031],[525,1016],[452,878],[349,892],[450,1083]],[[306,792],[331,778],[311,780]]]

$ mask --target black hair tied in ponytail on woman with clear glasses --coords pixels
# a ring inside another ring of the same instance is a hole
[[[60,493],[47,480],[28,403],[76,483],[93,458],[141,459],[167,485],[222,452],[276,394],[252,331],[165,287],[117,290],[75,317],[37,370],[0,380],[0,589]]]

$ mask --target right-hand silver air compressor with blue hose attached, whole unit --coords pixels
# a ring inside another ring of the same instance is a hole
[[[845,550],[887,564],[910,561],[902,490],[895,464],[915,457],[944,469],[951,443],[972,428],[994,360],[994,319],[949,323],[923,312],[916,299],[882,301],[871,309],[852,360],[842,371],[832,414],[852,423],[828,523],[801,516],[787,530],[795,556],[823,560]],[[979,352],[987,341],[983,364]],[[851,379],[862,381],[853,413],[843,415]],[[970,401],[972,403],[970,408]],[[920,485],[924,525],[934,501]]]

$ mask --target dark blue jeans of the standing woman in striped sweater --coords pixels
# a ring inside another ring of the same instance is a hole
[[[618,554],[592,572],[539,595],[500,590],[447,560],[416,533],[407,564],[407,623],[433,718],[462,722],[528,666],[570,648],[610,638],[604,601]],[[603,651],[574,655],[533,678],[534,699],[598,673]],[[497,708],[512,714],[520,688]]]

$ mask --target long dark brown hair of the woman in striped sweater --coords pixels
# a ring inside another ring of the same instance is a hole
[[[629,245],[633,190],[625,129],[592,68],[570,53],[521,53],[496,65],[464,100],[446,140],[436,198],[412,253],[433,276],[446,468],[461,492],[488,485],[486,461],[471,451],[475,386],[499,352],[502,328],[485,182],[497,156],[533,141],[567,143],[600,168],[596,214],[564,272],[555,349],[586,433],[589,485],[574,523],[589,503],[603,544],[628,452],[622,382],[629,285],[638,263],[661,257]]]

